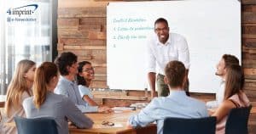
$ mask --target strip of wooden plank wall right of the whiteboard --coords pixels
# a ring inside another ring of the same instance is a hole
[[[241,1],[241,47],[242,67],[246,83],[245,92],[256,106],[256,1]],[[249,118],[249,132],[256,133],[256,113],[251,113]]]

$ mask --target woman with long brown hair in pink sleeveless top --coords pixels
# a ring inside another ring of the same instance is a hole
[[[225,124],[231,109],[250,105],[246,94],[242,92],[243,84],[244,77],[241,66],[230,65],[225,75],[224,101],[212,113],[212,116],[217,117],[216,134],[225,133]]]

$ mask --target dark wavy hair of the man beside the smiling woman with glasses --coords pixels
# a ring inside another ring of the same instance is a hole
[[[55,59],[55,64],[58,66],[61,75],[68,75],[67,66],[72,66],[72,64],[78,61],[77,55],[71,52],[61,53],[61,56]]]

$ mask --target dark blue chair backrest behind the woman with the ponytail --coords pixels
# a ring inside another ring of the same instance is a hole
[[[58,134],[56,122],[52,118],[15,117],[15,124],[18,134]]]

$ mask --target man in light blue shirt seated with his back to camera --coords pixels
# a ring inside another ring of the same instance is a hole
[[[187,79],[184,64],[177,60],[171,61],[166,64],[165,73],[164,81],[169,87],[169,96],[154,98],[139,114],[130,117],[128,126],[147,126],[156,121],[157,133],[162,134],[167,117],[188,119],[208,116],[205,103],[188,97],[183,90]]]

